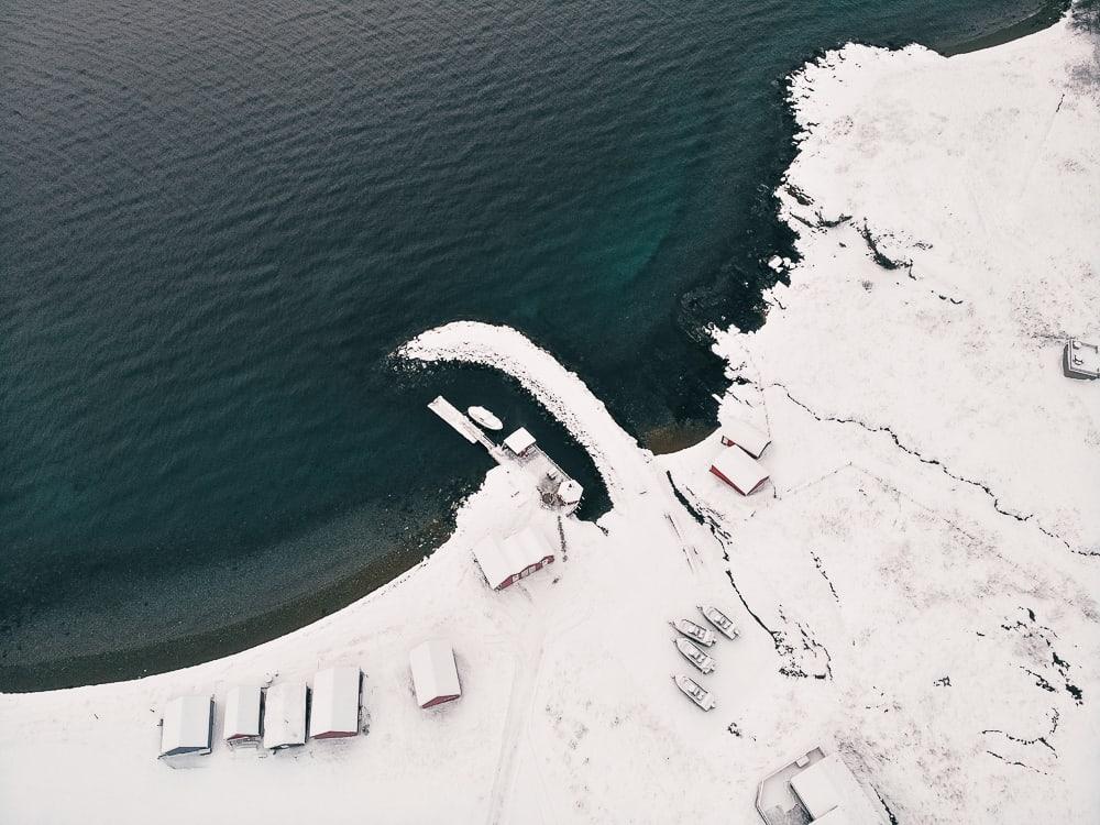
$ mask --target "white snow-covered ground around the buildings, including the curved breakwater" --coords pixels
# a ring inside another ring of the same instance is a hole
[[[516,376],[614,509],[492,592],[474,542],[550,519],[499,468],[430,560],[324,620],[0,696],[0,822],[754,823],[758,781],[815,744],[901,823],[1100,821],[1100,383],[1058,362],[1100,337],[1094,48],[1064,22],[950,59],[848,46],[793,79],[802,263],[759,332],[716,333],[721,414],[770,431],[772,485],[710,475],[716,435],[648,454],[514,330],[426,332],[406,358]],[[689,667],[666,624],[704,601],[743,629],[698,678],[708,714],[669,679]],[[439,635],[463,696],[425,712],[407,654]],[[366,736],[155,759],[168,698],[344,663]]]

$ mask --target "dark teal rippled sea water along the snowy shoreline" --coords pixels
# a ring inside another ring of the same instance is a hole
[[[509,380],[394,349],[509,323],[644,442],[692,438],[702,330],[760,322],[788,242],[784,76],[1040,8],[3,3],[0,690],[232,652],[407,568],[490,468],[440,392],[532,429],[597,514]]]

